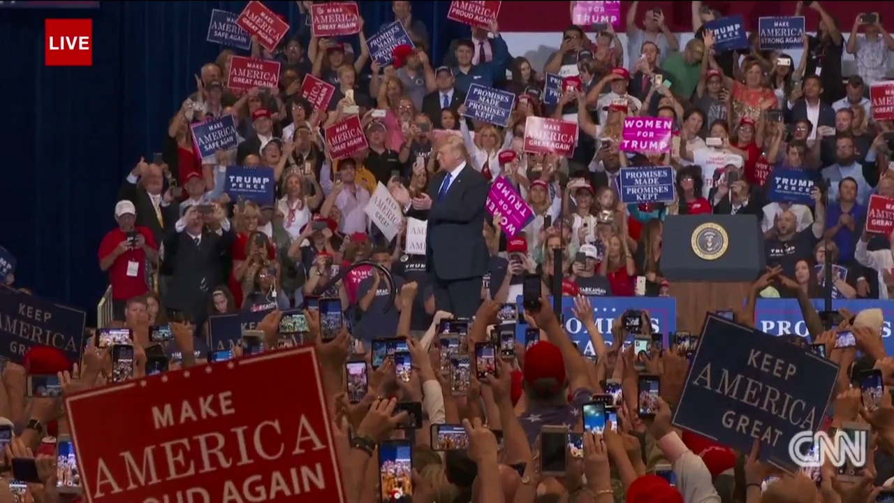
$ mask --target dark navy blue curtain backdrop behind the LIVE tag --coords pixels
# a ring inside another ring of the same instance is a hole
[[[102,2],[94,10],[0,10],[5,113],[0,245],[18,259],[16,286],[95,317],[107,280],[97,247],[113,228],[115,194],[150,158],[167,122],[195,90],[193,75],[222,47],[205,41],[212,9],[246,2]],[[294,2],[266,2],[302,26]],[[392,21],[391,2],[358,2],[367,34]],[[414,2],[440,60],[468,27],[446,21],[449,2]],[[93,19],[93,66],[44,66],[46,18]]]

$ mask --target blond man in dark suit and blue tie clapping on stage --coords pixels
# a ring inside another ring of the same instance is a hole
[[[432,177],[428,193],[413,200],[405,189],[394,194],[409,209],[409,217],[428,221],[426,271],[434,305],[455,317],[471,317],[481,305],[482,277],[490,259],[484,236],[490,184],[465,158],[462,140],[446,137],[437,149],[441,171]]]

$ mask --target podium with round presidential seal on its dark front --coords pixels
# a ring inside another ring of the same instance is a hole
[[[766,269],[754,215],[678,215],[664,221],[662,276],[677,299],[677,328],[701,331],[705,311],[740,308]]]

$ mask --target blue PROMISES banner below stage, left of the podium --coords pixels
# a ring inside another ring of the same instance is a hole
[[[552,297],[549,298],[552,306]],[[519,304],[519,313],[524,312],[521,305],[521,296],[516,299]],[[664,334],[664,344],[668,344],[667,336],[677,331],[677,300],[673,297],[590,297],[593,304],[593,319],[596,328],[603,334],[605,344],[611,345],[611,324],[616,318],[628,310],[648,311],[652,318],[652,330]],[[565,332],[571,337],[571,341],[582,348],[584,354],[595,354],[590,336],[586,333],[584,324],[574,315],[574,299],[562,297],[561,314],[565,320]],[[523,320],[519,315],[519,320]],[[515,337],[525,344],[525,328],[527,325],[516,325]]]

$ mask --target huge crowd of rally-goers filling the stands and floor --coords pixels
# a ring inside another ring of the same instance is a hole
[[[299,2],[304,16],[311,4]],[[573,11],[576,3],[570,4]],[[800,304],[812,341],[840,365],[833,422],[869,422],[877,434],[874,465],[854,473],[862,482],[847,483],[825,471],[818,481],[777,477],[755,451],[733,451],[671,428],[697,337],[666,351],[649,343],[634,354],[624,344],[631,333],[623,320],[600,333],[590,302],[673,294],[662,275],[663,221],[703,214],[750,219],[763,233],[765,262],[773,269],[757,278],[752,296],[815,298],[830,288],[835,298],[891,298],[894,238],[868,233],[865,224],[870,196],[894,198],[894,124],[873,118],[868,99],[870,86],[885,81],[894,38],[879,13],[864,15],[873,13],[857,12],[858,5],[848,35],[840,26],[851,20],[832,18],[822,2],[797,2],[793,15],[809,9],[822,20],[807,27],[815,35],[804,35],[797,61],[763,49],[755,33],[750,47],[719,49],[719,34],[707,26],[721,13],[702,2],[691,2],[695,38],[683,46],[666,26],[669,13],[625,4],[618,27],[594,30],[569,19],[543,68],[512,56],[498,20],[473,27],[441,58],[429,38],[436,27],[415,18],[407,1],[392,2],[390,21],[401,22],[413,47],[396,48],[390,64],[370,63],[367,37],[379,27],[362,19],[358,44],[309,36],[303,16],[286,20],[296,34],[274,50],[252,38],[252,57],[282,64],[274,89],[229,87],[232,56],[240,53],[224,49],[198,69],[197,90],[173,114],[158,154],[123,176],[117,226],[99,243],[97,258],[112,287],[110,326],[126,329],[101,331],[85,348],[80,373],[60,377],[63,392],[146,375],[148,360],[157,358],[148,357],[156,345],[153,327],[170,327],[173,340],[164,345],[175,349],[166,351],[177,354],[175,370],[205,363],[200,341],[210,335],[211,317],[265,312],[257,325],[265,350],[283,347],[285,332],[301,332],[301,344],[316,347],[329,414],[343,425],[335,448],[350,503],[883,498],[882,486],[894,477],[888,388],[894,360],[881,345],[880,314],[845,316],[830,331],[814,323],[810,303]],[[616,29],[626,32],[626,47]],[[857,68],[847,78],[845,52]],[[333,85],[325,107],[301,96],[309,75]],[[549,87],[549,76],[561,77],[561,89]],[[515,95],[508,124],[468,116],[473,83]],[[552,92],[557,101],[547,104]],[[190,125],[224,115],[234,119],[238,146],[202,158]],[[367,148],[333,158],[325,129],[350,115],[358,115]],[[531,117],[577,124],[572,152],[527,151]],[[621,150],[629,117],[670,119],[671,151]],[[273,168],[273,203],[227,194],[227,166]],[[623,202],[621,171],[650,166],[671,166],[673,199]],[[805,174],[809,203],[772,190],[781,170]],[[534,216],[518,234],[507,235],[505,216],[486,209],[497,179]],[[379,183],[402,209],[394,239],[366,212]],[[410,218],[425,222],[424,251],[409,250]],[[831,286],[824,285],[827,255]],[[540,277],[548,294],[557,271],[561,294],[587,307],[577,314],[593,343],[592,359],[544,307],[545,298],[524,313],[515,305],[526,277]],[[341,311],[324,310],[324,303]],[[283,325],[282,311],[290,308],[303,315]],[[525,344],[503,341],[493,330],[522,317],[534,334]],[[443,330],[448,320],[467,322],[468,333]],[[734,311],[734,320],[753,326],[754,303]],[[697,333],[699,327],[681,329]],[[853,345],[835,345],[836,333],[848,330]],[[651,324],[638,331],[651,336]],[[395,368],[398,346],[375,344],[387,337],[405,337],[411,365]],[[513,357],[472,358],[485,343]],[[132,354],[113,360],[111,350],[122,344],[132,345]],[[242,356],[239,346],[228,354]],[[25,368],[34,375],[69,371],[59,357],[38,351],[26,357]],[[368,368],[357,366],[363,361]],[[878,404],[873,410],[850,387],[852,366],[882,372],[884,388],[867,392]],[[62,431],[65,421],[58,404],[21,399],[25,368],[4,370],[9,400],[0,403],[0,413],[21,426],[13,444],[32,448],[36,463],[46,463],[38,449],[45,426],[58,421]],[[637,385],[645,375],[654,378],[653,388]],[[612,383],[618,389],[609,389]],[[574,431],[582,405],[603,393],[612,396],[615,427],[584,433],[567,473],[544,476],[541,428]],[[383,398],[390,396],[396,398]],[[420,403],[422,417],[409,418],[399,402]],[[392,415],[396,408],[404,412]],[[411,426],[417,422],[422,428]],[[464,432],[432,439],[431,424],[461,425]],[[504,448],[497,448],[494,433],[500,432]],[[395,447],[389,443],[395,439],[412,445]],[[368,456],[352,456],[357,451]],[[16,447],[14,454],[28,453]],[[51,457],[58,471],[41,472],[41,483],[29,484],[30,498],[41,503],[67,500],[57,486],[80,479],[73,454]],[[676,485],[654,475],[659,462],[672,464]]]

